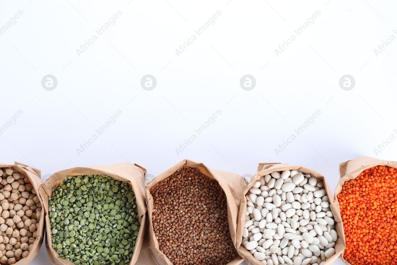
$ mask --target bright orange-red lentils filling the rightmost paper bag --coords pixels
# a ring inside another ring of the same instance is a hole
[[[397,264],[397,169],[375,166],[346,181],[337,195],[352,265]]]

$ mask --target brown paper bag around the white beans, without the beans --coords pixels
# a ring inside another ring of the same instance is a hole
[[[318,180],[321,180],[324,183],[324,188],[327,191],[328,198],[330,199],[330,208],[333,213],[333,217],[335,219],[335,231],[338,235],[338,240],[336,241],[334,246],[335,255],[327,258],[327,261],[324,263],[324,265],[331,265],[333,261],[335,261],[338,258],[338,256],[343,252],[343,250],[346,247],[341,213],[339,211],[339,204],[332,197],[330,187],[328,186],[323,175],[309,168],[305,168],[303,166],[293,166],[289,164],[280,164],[280,163],[259,163],[258,173],[256,173],[251,178],[251,181],[249,182],[247,188],[245,188],[245,191],[243,192],[243,196],[241,198],[240,211],[239,211],[239,219],[237,221],[237,250],[239,251],[239,254],[241,256],[245,257],[245,259],[249,264],[262,265],[262,263],[258,261],[258,259],[255,259],[254,256],[248,250],[246,250],[244,246],[241,245],[241,242],[243,241],[245,213],[247,212],[247,199],[245,195],[247,195],[247,192],[252,188],[254,183],[259,180],[261,176],[265,176],[274,171],[293,170],[293,169],[302,171],[306,174],[310,174],[311,176],[317,178]]]

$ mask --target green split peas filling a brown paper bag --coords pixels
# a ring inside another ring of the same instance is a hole
[[[68,176],[48,198],[52,248],[75,265],[129,264],[140,224],[130,184]]]

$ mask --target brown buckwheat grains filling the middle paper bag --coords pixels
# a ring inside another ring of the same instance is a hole
[[[183,166],[150,189],[159,249],[173,264],[223,265],[238,257],[227,199],[216,180]]]

